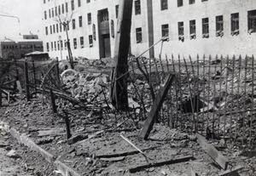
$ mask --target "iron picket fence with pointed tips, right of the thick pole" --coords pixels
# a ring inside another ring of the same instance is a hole
[[[154,92],[165,80],[167,72],[176,74],[176,81],[159,113],[160,122],[170,128],[202,133],[207,139],[231,139],[241,145],[255,143],[253,56],[244,59],[241,56],[216,56],[212,59],[210,55],[201,60],[199,57],[181,59],[178,56],[175,59],[172,56],[171,60],[167,57],[166,60],[141,60],[144,72],[148,71],[149,87],[152,85]],[[131,64],[131,67],[135,65]],[[135,71],[133,73],[136,75]],[[140,96],[148,91],[140,90]],[[143,103],[147,100],[144,98]]]

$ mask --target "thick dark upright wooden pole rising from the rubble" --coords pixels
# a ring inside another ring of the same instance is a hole
[[[121,111],[128,110],[127,75],[130,48],[132,0],[119,0],[119,17],[115,38],[110,97]]]

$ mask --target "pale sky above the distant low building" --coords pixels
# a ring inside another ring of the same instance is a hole
[[[4,37],[19,38],[22,35],[37,34],[41,30],[42,0],[0,0],[0,41]],[[5,17],[12,15],[20,19]],[[21,36],[20,36],[21,34]]]

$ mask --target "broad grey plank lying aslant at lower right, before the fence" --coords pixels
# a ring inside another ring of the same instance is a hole
[[[207,152],[212,159],[218,163],[220,167],[226,170],[228,166],[228,159],[224,157],[213,145],[208,144],[207,139],[196,133],[197,141],[201,145],[201,148]]]

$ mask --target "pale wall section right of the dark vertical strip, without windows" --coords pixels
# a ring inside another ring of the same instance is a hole
[[[181,54],[188,58],[189,54],[195,58],[196,54],[255,54],[256,33],[251,35],[247,29],[247,11],[256,9],[253,0],[214,0],[189,4],[183,0],[183,6],[177,7],[177,0],[168,1],[168,9],[160,10],[160,1],[154,1],[154,40],[161,37],[161,25],[169,24],[170,41],[164,43],[162,55]],[[230,14],[239,13],[240,34],[232,36]],[[224,17],[224,36],[216,37],[216,16]],[[209,18],[209,37],[202,37],[202,18]],[[195,20],[196,38],[189,37],[189,20]],[[178,25],[183,21],[184,41],[178,40]],[[155,56],[160,54],[160,45],[154,48]]]

